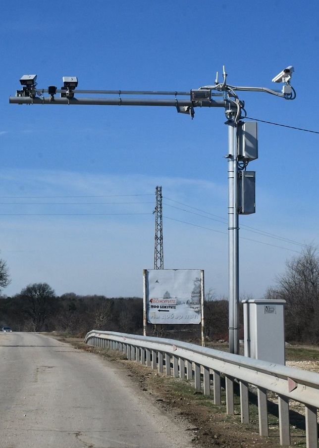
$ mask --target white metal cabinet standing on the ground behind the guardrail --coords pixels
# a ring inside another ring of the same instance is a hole
[[[285,365],[285,300],[245,300],[245,356]]]

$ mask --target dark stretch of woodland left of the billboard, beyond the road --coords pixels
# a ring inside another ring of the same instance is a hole
[[[34,283],[13,297],[0,299],[0,323],[14,331],[134,333],[143,329],[143,301],[74,293],[57,296],[47,283]]]

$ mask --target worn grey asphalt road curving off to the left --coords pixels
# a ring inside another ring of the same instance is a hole
[[[187,433],[113,363],[0,332],[0,448],[188,448]]]

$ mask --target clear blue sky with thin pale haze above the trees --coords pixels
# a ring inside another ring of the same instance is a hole
[[[319,2],[2,1],[0,256],[19,293],[142,297],[154,267],[162,187],[164,268],[205,270],[228,295],[227,127],[220,108],[9,104],[24,74],[38,87],[77,76],[82,90],[189,91],[227,82],[278,88],[295,67],[297,98],[240,93],[247,115],[319,131]],[[221,77],[220,77],[221,78]],[[240,294],[261,298],[286,259],[318,245],[315,133],[259,123],[256,213],[240,217]],[[249,226],[249,227],[248,227]],[[290,240],[291,242],[288,242]]]

